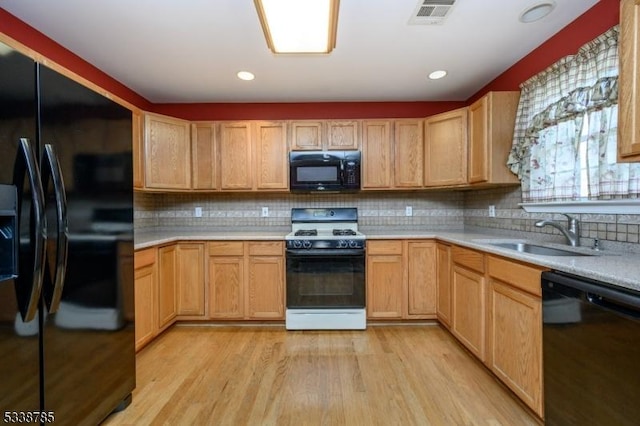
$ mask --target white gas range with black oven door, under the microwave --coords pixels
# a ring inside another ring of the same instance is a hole
[[[288,330],[366,328],[365,242],[356,208],[292,209]]]

